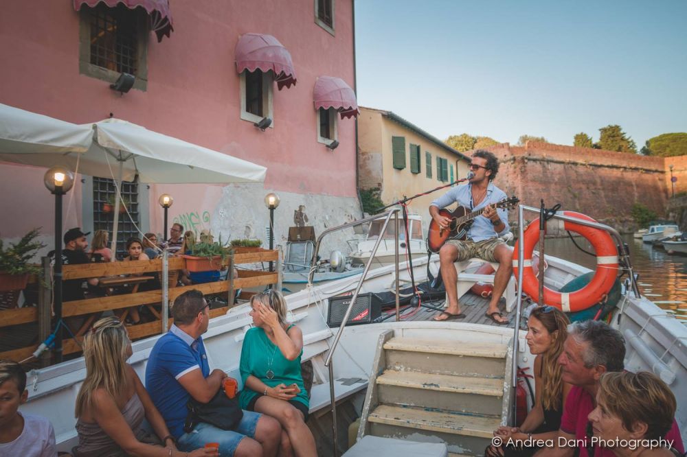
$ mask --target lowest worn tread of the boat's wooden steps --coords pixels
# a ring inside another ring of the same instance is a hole
[[[368,416],[372,423],[395,425],[428,432],[440,432],[478,438],[492,438],[501,419],[467,414],[427,411],[417,408],[380,405]]]

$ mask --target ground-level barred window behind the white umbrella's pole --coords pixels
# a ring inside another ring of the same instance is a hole
[[[115,257],[121,259],[126,255],[126,240],[140,237],[135,224],[139,224],[138,184],[122,183],[122,200],[124,207],[113,208],[115,202],[115,182],[109,178],[93,177],[93,231],[106,230],[112,239],[114,211],[120,211],[117,224],[117,253]]]

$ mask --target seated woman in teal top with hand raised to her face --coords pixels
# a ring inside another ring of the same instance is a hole
[[[282,452],[317,456],[315,438],[305,424],[308,394],[303,386],[303,332],[286,322],[286,301],[270,290],[251,298],[254,328],[246,332],[239,365],[241,408],[262,412],[282,424]]]

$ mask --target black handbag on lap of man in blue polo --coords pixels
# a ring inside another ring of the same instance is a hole
[[[241,419],[243,410],[236,398],[229,398],[224,389],[219,389],[212,400],[207,403],[190,397],[186,403],[188,414],[183,424],[183,431],[192,432],[198,423],[205,422],[222,430],[234,430]]]

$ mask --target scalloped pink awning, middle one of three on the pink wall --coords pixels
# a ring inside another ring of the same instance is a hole
[[[296,84],[291,54],[277,38],[267,34],[245,34],[236,43],[236,71],[273,71],[274,80],[282,87]]]

